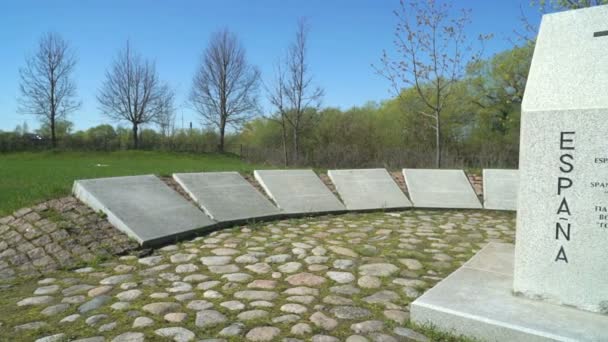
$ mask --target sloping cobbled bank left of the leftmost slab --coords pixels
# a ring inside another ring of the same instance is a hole
[[[0,218],[0,280],[36,276],[138,248],[103,217],[65,197]]]

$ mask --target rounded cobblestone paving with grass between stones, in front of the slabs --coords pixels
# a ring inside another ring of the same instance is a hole
[[[409,323],[409,303],[512,213],[409,210],[247,225],[147,257],[9,282],[6,341],[458,340]],[[438,337],[441,336],[441,337]]]

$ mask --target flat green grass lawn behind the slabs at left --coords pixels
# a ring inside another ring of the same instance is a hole
[[[76,179],[174,172],[240,171],[254,166],[219,154],[149,151],[0,154],[0,217],[68,195]]]

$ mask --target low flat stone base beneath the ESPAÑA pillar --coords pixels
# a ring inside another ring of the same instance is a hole
[[[608,341],[608,316],[514,296],[514,246],[490,243],[411,304],[412,322],[483,341]]]

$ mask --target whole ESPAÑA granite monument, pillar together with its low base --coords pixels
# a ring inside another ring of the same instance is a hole
[[[608,341],[608,5],[543,17],[522,104],[515,246],[411,304],[490,341]]]

